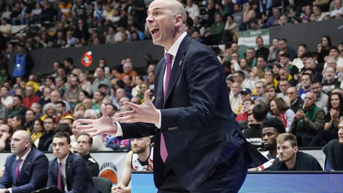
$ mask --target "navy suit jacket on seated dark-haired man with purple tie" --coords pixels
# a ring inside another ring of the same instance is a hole
[[[49,175],[47,186],[57,186],[58,161],[49,161]],[[66,161],[66,175],[68,193],[97,193],[92,175],[83,158],[69,153]],[[62,187],[64,192],[64,187]]]

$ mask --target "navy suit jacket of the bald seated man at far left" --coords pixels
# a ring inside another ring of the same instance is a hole
[[[45,187],[48,177],[48,158],[36,148],[31,148],[19,174],[19,183],[16,182],[15,168],[18,161],[16,155],[7,157],[5,171],[0,180],[0,189],[11,188],[12,193],[27,193]]]

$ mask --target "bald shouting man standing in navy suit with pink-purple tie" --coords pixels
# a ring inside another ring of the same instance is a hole
[[[119,139],[155,135],[154,182],[159,192],[238,192],[248,167],[268,161],[244,138],[229,103],[225,72],[213,51],[186,33],[177,0],[155,0],[147,11],[153,43],[165,48],[157,64],[153,102],[124,102],[113,123],[78,120],[81,132]]]

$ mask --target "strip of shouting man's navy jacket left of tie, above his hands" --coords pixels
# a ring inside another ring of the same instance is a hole
[[[156,96],[155,107],[156,107],[156,109],[162,109],[163,93],[164,93],[163,78],[164,78],[164,72],[166,70],[166,58],[163,57],[161,59],[161,61],[159,61],[157,66],[159,66],[159,77],[158,77],[158,82],[155,81],[155,88],[157,88],[157,91],[155,92],[155,96]],[[157,85],[156,85],[156,83],[157,83]],[[158,93],[158,94],[156,94],[156,93]]]

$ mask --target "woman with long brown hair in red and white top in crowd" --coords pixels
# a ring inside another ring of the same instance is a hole
[[[281,98],[272,99],[269,102],[269,112],[271,115],[279,117],[285,125],[286,132],[289,132],[295,113],[288,109],[288,106]]]

